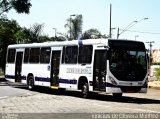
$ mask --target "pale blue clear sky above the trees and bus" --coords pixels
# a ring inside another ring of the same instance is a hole
[[[120,34],[120,39],[143,41],[147,49],[149,44],[146,42],[154,41],[152,49],[160,49],[160,0],[31,0],[31,4],[30,14],[18,14],[11,10],[6,15],[21,27],[44,24],[43,33],[50,37],[55,35],[53,28],[58,33],[67,32],[64,25],[70,15],[82,15],[82,32],[96,28],[108,35],[112,4],[112,38],[117,38],[118,28],[121,33],[133,23],[132,27]]]

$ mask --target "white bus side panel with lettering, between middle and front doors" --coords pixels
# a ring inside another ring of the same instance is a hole
[[[80,77],[86,77],[88,83],[92,82],[91,65],[60,65],[60,88],[78,89],[78,81]],[[93,86],[89,84],[89,90],[93,91]]]

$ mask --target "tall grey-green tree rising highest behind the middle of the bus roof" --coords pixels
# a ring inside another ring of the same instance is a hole
[[[67,24],[65,24],[65,28],[68,28],[68,34],[70,34],[70,40],[78,39],[80,34],[82,33],[82,15],[76,15],[74,19],[67,19]]]

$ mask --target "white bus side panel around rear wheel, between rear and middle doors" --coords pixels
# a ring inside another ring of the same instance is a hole
[[[39,86],[50,87],[50,69],[49,64],[23,64],[22,77],[23,82],[26,83],[29,74],[34,77],[34,84]]]

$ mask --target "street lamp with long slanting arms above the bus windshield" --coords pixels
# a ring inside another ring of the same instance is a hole
[[[127,31],[128,29],[130,29],[131,27],[133,27],[134,25],[136,25],[137,23],[143,21],[143,20],[147,20],[148,18],[143,18],[143,19],[140,19],[138,21],[132,21],[127,27],[125,27],[121,33],[119,33],[119,28],[118,28],[118,32],[117,32],[117,39],[119,38],[119,36],[124,33],[125,31]]]

